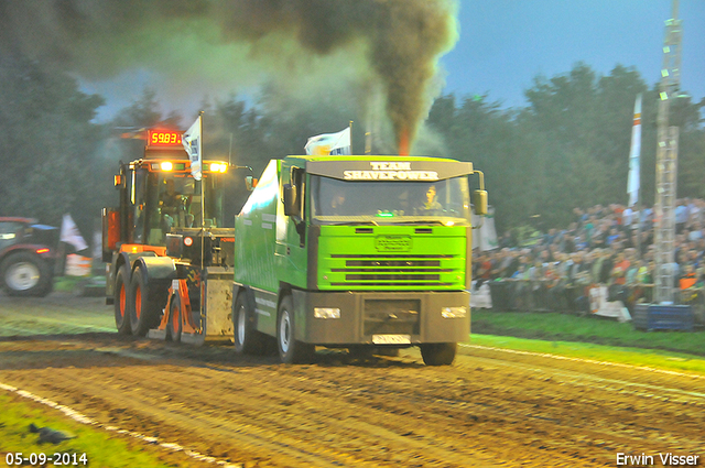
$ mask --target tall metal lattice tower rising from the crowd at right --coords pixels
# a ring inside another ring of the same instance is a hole
[[[655,196],[655,271],[653,302],[673,303],[675,294],[674,240],[679,154],[679,128],[669,127],[671,100],[681,84],[681,20],[676,20],[679,0],[673,0],[673,14],[665,22],[663,67],[659,95],[657,196]]]

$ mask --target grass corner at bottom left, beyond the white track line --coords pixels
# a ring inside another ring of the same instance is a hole
[[[51,457],[54,454],[69,454],[72,466],[74,466],[73,454],[76,454],[77,460],[86,454],[87,464],[77,461],[76,466],[106,468],[204,466],[191,462],[183,454],[169,453],[132,440],[127,442],[106,431],[74,422],[57,410],[29,402],[12,393],[0,391],[0,407],[2,409],[0,411],[0,464],[7,462],[8,454],[22,453],[23,457],[29,457],[30,454],[46,454],[50,458],[46,466],[53,466]],[[29,431],[30,423],[39,427],[48,426],[76,437],[56,445],[40,444],[39,435]]]

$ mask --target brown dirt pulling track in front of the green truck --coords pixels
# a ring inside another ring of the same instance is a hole
[[[283,366],[120,338],[101,331],[110,314],[100,300],[0,296],[0,382],[246,466],[614,467],[642,451],[704,465],[702,376],[477,347],[442,368],[415,349]],[[9,336],[42,330],[61,335]]]

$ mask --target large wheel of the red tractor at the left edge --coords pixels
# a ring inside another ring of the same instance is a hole
[[[52,272],[41,258],[30,252],[9,255],[0,265],[0,277],[10,296],[41,296],[52,291]]]

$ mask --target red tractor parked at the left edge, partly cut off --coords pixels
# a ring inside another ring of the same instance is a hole
[[[0,284],[12,296],[52,291],[58,229],[36,219],[0,217]]]

